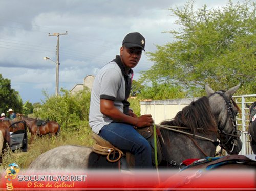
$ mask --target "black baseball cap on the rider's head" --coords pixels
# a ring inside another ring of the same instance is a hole
[[[131,47],[139,47],[145,51],[145,38],[138,32],[128,33],[123,39],[123,45],[130,49]]]

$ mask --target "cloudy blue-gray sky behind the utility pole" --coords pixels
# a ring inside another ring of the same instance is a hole
[[[185,0],[0,0],[0,74],[11,80],[23,102],[45,100],[42,90],[55,94],[57,37],[60,36],[59,89],[71,90],[87,75],[97,71],[119,54],[124,36],[140,32],[146,51],[172,41],[169,33],[177,28],[168,8],[183,6]],[[234,1],[233,1],[234,2]],[[218,8],[228,0],[195,0]],[[153,63],[143,55],[135,71]]]

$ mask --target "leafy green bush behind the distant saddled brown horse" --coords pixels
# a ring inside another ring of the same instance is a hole
[[[37,118],[56,121],[61,125],[61,129],[79,129],[81,124],[88,124],[90,96],[88,89],[72,94],[70,91],[62,89],[59,96],[49,96],[43,92],[46,100],[35,107],[34,115]]]

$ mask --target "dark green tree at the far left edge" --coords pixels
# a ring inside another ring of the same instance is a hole
[[[11,88],[11,80],[3,78],[0,74],[0,112],[6,113],[12,108],[16,113],[22,112],[22,99],[18,91]]]

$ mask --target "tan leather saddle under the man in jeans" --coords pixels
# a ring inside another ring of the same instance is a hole
[[[137,131],[150,143],[151,151],[152,151],[151,152],[152,163],[153,165],[155,165],[153,126],[140,128],[140,129],[137,129]],[[117,162],[124,156],[126,157],[126,162],[129,168],[133,168],[135,166],[135,157],[133,154],[127,151],[120,150],[119,148],[113,146],[109,141],[105,140],[104,138],[102,138],[96,133],[93,133],[92,136],[96,141],[96,143],[92,147],[93,152],[101,155],[106,155],[107,156],[106,159],[109,162]],[[116,153],[118,153],[117,156],[116,156]],[[157,137],[157,158],[158,158],[158,163],[160,163],[162,160],[162,151],[161,151],[158,137]]]

